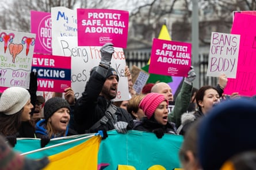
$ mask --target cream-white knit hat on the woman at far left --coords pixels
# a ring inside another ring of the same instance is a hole
[[[6,115],[17,113],[25,106],[29,98],[30,94],[25,88],[7,88],[0,97],[0,112]]]

